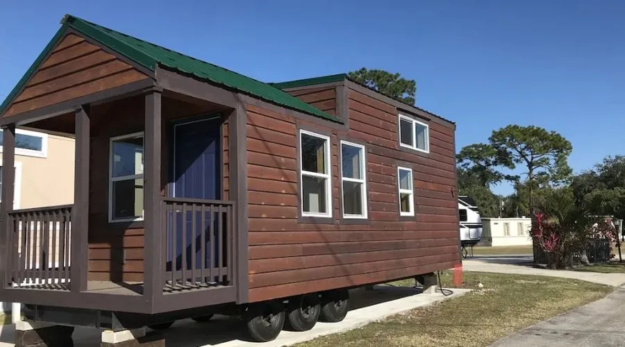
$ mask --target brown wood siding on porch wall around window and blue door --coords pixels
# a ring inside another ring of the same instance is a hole
[[[108,222],[108,180],[110,138],[144,131],[142,96],[122,99],[92,109],[89,280],[139,282],[143,280],[144,229],[142,222]],[[180,118],[212,113],[206,106],[163,98],[163,174],[161,195],[167,194],[169,127]],[[224,130],[227,134],[227,130]],[[227,144],[224,139],[224,144]],[[228,158],[224,146],[224,158]],[[226,160],[227,163],[227,160]],[[227,170],[225,171],[227,174]],[[227,188],[227,180],[224,178]],[[125,262],[124,262],[125,255]]]

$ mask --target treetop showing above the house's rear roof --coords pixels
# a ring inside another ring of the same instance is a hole
[[[393,99],[408,105],[415,104],[415,93],[417,92],[415,80],[407,80],[402,78],[400,74],[392,74],[384,70],[368,70],[365,67],[351,71],[347,76],[353,81],[366,85]]]

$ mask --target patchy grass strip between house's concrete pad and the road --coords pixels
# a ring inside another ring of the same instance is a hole
[[[462,287],[476,291],[296,346],[488,346],[612,291],[604,285],[544,276],[464,273],[464,280]],[[443,287],[450,286],[451,272],[444,273],[442,281]],[[478,282],[483,289],[477,290]]]

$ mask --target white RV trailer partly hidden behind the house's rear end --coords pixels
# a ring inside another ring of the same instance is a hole
[[[458,196],[458,214],[462,257],[467,257],[473,255],[473,246],[480,242],[482,237],[482,219],[474,199],[465,195]]]

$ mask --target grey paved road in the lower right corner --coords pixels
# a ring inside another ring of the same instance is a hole
[[[625,289],[521,330],[492,347],[625,346]]]

